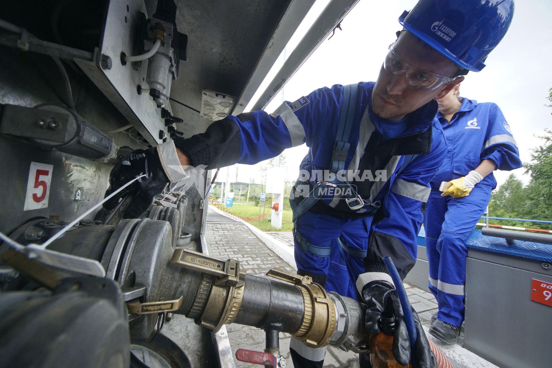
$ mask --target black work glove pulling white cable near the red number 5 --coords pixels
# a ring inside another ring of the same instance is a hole
[[[109,174],[109,188],[105,191],[105,197],[107,197],[132,179],[144,174],[146,176],[139,178],[115,194],[109,201],[104,202],[103,207],[114,209],[120,197],[126,193],[135,192],[134,199],[125,210],[124,218],[135,219],[144,213],[153,203],[153,198],[161,194],[169,182],[155,147],[146,150],[137,149],[116,164]]]

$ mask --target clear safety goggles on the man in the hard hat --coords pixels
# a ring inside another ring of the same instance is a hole
[[[383,67],[386,72],[392,75],[399,75],[404,72],[408,88],[416,91],[432,91],[443,83],[449,83],[455,79],[429,73],[408,65],[408,63],[393,50],[393,45],[394,44],[389,45],[389,53],[385,57]]]

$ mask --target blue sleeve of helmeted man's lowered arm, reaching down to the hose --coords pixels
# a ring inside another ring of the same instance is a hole
[[[422,203],[427,202],[431,192],[429,182],[446,154],[443,132],[434,130],[430,153],[417,156],[395,178],[384,198],[383,208],[380,208],[383,212],[376,215],[370,231],[368,256],[364,259],[367,272],[386,272],[381,258],[391,256],[404,279],[416,263],[416,236],[423,222]]]

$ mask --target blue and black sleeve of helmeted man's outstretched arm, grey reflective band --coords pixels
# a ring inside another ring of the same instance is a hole
[[[205,133],[175,139],[174,144],[189,156],[193,166],[214,169],[256,164],[305,142],[310,147],[322,131],[332,134],[342,99],[341,85],[317,89],[295,102],[285,101],[270,114],[258,110],[227,116]]]

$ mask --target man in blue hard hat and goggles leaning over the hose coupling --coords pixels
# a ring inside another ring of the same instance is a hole
[[[410,345],[382,258],[391,256],[402,278],[413,267],[421,206],[447,151],[440,123],[434,120],[436,100],[460,83],[462,75],[485,67],[512,15],[512,0],[420,0],[399,17],[403,30],[389,47],[375,83],[317,89],[284,102],[272,114],[227,116],[205,133],[132,153],[113,169],[107,194],[146,174],[129,187],[137,194],[125,217],[137,217],[169,181],[185,177],[181,165],[214,169],[255,164],[306,143],[309,153],[290,198],[298,273],[310,275],[327,290],[362,300],[371,334],[380,331],[380,313],[392,313],[395,359],[434,367],[415,312],[417,339]],[[104,207],[113,208],[116,201]],[[293,339],[290,350],[296,367],[323,364],[323,347]]]

